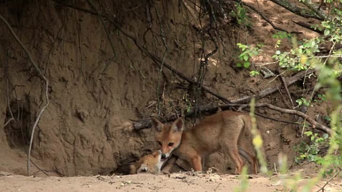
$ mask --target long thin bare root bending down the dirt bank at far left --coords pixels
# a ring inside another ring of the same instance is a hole
[[[28,147],[28,156],[27,156],[27,176],[29,175],[29,163],[30,163],[30,155],[31,155],[31,147],[32,147],[32,141],[33,141],[33,135],[34,135],[34,130],[35,127],[38,124],[38,121],[42,115],[42,113],[44,112],[44,110],[46,109],[46,107],[48,106],[48,80],[46,79],[46,77],[43,75],[43,73],[41,72],[41,70],[39,69],[38,65],[35,63],[35,61],[33,61],[31,55],[29,54],[28,50],[26,49],[26,47],[22,44],[22,42],[20,41],[20,39],[16,36],[15,32],[13,31],[12,27],[10,26],[10,24],[6,21],[6,19],[4,19],[2,17],[2,15],[0,14],[0,19],[5,23],[5,25],[7,26],[9,32],[13,35],[14,39],[16,40],[16,42],[20,45],[20,47],[24,50],[24,52],[27,54],[28,59],[30,60],[30,62],[32,63],[32,65],[34,66],[36,72],[39,74],[39,76],[45,81],[45,100],[46,100],[46,104],[41,108],[41,110],[38,113],[38,116],[33,124],[32,127],[32,133],[31,133],[31,139],[29,141],[29,147]]]

